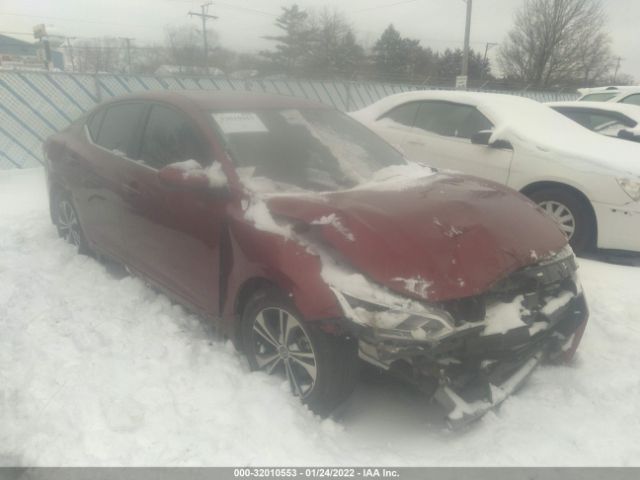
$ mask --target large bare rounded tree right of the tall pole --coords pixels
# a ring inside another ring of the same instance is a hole
[[[525,0],[498,62],[505,77],[538,88],[604,78],[612,54],[601,0]]]

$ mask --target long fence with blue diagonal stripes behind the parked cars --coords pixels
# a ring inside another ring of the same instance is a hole
[[[42,163],[44,139],[96,103],[145,90],[239,90],[308,98],[339,110],[363,108],[393,93],[430,87],[376,82],[235,80],[194,76],[0,72],[0,169]],[[513,92],[511,92],[513,93]],[[518,92],[540,101],[570,100],[562,93]]]

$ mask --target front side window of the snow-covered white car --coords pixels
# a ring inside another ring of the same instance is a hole
[[[491,130],[493,124],[471,105],[422,102],[416,128],[446,137],[470,139],[482,130]]]

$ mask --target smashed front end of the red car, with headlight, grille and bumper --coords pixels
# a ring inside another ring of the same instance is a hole
[[[499,405],[541,362],[573,356],[589,316],[576,273],[567,247],[476,297],[397,309],[402,321],[391,329],[384,305],[336,296],[360,357],[433,397],[459,427]]]

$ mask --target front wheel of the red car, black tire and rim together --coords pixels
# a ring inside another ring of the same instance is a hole
[[[278,374],[316,414],[329,415],[351,394],[357,376],[355,341],[305,322],[289,297],[267,289],[244,308],[242,345],[252,370]]]

